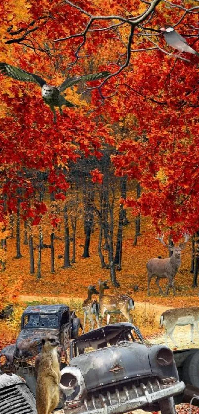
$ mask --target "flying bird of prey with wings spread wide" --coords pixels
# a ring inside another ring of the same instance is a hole
[[[51,86],[49,85],[44,79],[40,76],[32,74],[30,72],[26,72],[21,68],[16,68],[15,66],[8,65],[7,63],[0,62],[0,72],[3,75],[7,75],[12,77],[16,80],[22,80],[24,82],[33,82],[37,83],[41,87],[41,94],[44,102],[49,105],[51,111],[54,114],[53,121],[56,122],[56,112],[55,107],[59,107],[59,112],[63,115],[62,106],[65,105],[66,107],[74,107],[76,105],[72,104],[72,102],[67,101],[61,92],[65,89],[70,88],[71,86],[75,85],[80,81],[90,81],[90,80],[97,80],[102,79],[103,77],[109,76],[109,72],[100,72],[98,74],[90,74],[84,76],[76,76],[67,78],[61,83],[60,86]]]

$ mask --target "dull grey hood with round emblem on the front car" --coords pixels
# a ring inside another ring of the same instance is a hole
[[[148,347],[141,343],[121,343],[85,353],[70,361],[83,375],[87,390],[152,374]]]

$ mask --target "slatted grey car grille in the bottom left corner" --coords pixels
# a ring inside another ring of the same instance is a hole
[[[0,388],[0,414],[36,414],[36,408],[29,404],[30,397],[25,383],[4,384]]]

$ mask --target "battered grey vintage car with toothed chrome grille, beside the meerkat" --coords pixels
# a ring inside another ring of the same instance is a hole
[[[62,369],[60,381],[67,413],[120,414],[138,408],[176,413],[173,397],[185,384],[169,348],[146,345],[130,323],[98,328],[74,342],[80,355]],[[87,346],[96,350],[84,353]]]

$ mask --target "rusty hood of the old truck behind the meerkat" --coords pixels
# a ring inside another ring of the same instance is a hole
[[[41,338],[54,335],[58,338],[57,329],[22,329],[17,340],[14,357],[28,358],[37,355],[41,351]]]

